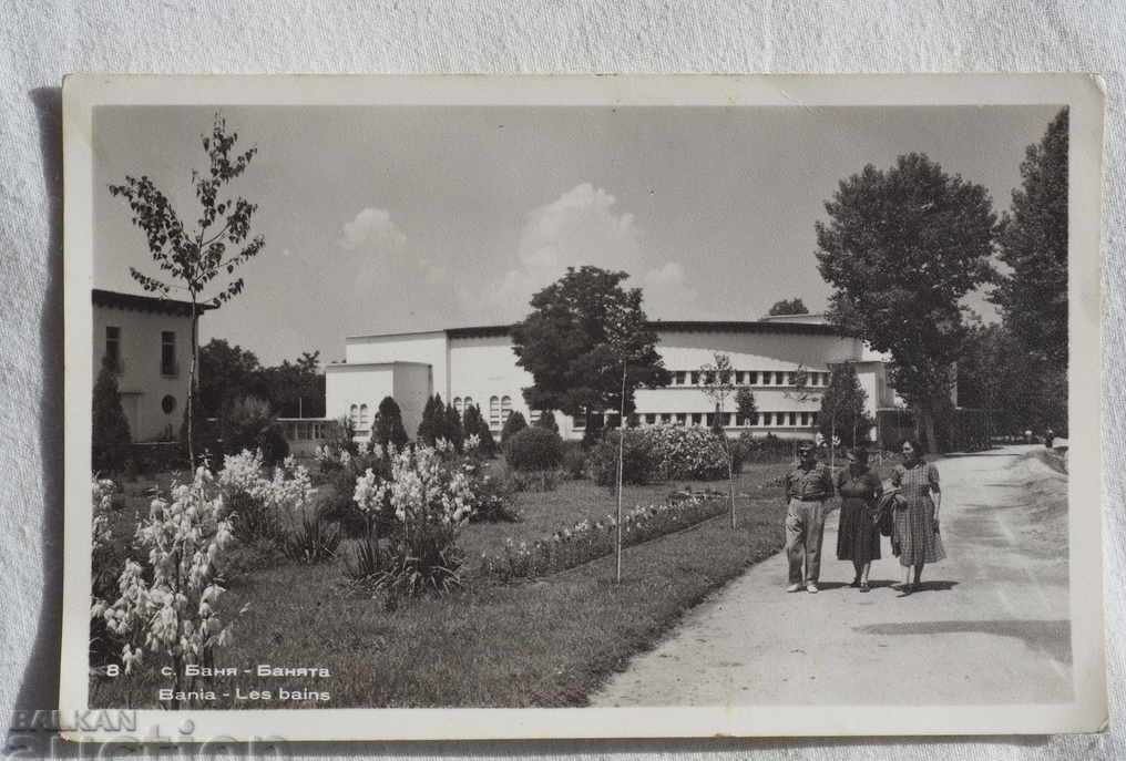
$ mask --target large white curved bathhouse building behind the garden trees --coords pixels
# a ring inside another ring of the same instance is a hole
[[[672,374],[668,387],[636,392],[638,424],[709,426],[714,403],[700,388],[699,368],[722,352],[731,358],[735,380],[754,393],[758,415],[741,420],[734,402],[723,423],[729,433],[744,430],[784,438],[808,437],[816,422],[821,391],[830,367],[856,367],[868,395],[868,412],[896,404],[887,385],[885,362],[863,341],[842,337],[821,315],[793,315],[748,322],[653,322],[658,351]],[[475,404],[493,431],[520,411],[534,420],[522,390],[531,375],[516,364],[509,326],[452,328],[420,333],[352,335],[345,341],[345,361],[325,368],[327,415],[349,418],[358,439],[369,436],[376,409],[392,396],[413,436],[431,394],[441,394],[458,411]],[[806,374],[804,388],[795,384]],[[582,436],[587,420],[556,413],[564,438]]]

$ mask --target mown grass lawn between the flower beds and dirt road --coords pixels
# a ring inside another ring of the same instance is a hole
[[[223,607],[251,607],[216,665],[323,666],[331,677],[220,678],[209,687],[215,700],[200,707],[582,706],[686,610],[780,549],[781,489],[761,484],[786,469],[748,466],[738,491],[749,496],[736,502],[735,530],[720,518],[627,548],[620,585],[614,583],[614,557],[607,556],[533,582],[500,584],[470,575],[463,592],[388,611],[379,600],[350,592],[338,563],[280,562],[243,574]],[[662,500],[681,485],[629,487],[624,503]],[[521,493],[520,522],[472,525],[462,544],[472,557],[504,537],[534,539],[584,516],[602,517],[614,505],[608,490],[587,481]],[[92,684],[91,705],[154,707],[158,688],[170,686],[157,668],[151,663],[135,677]],[[270,690],[272,699],[238,700],[235,688],[243,695]],[[279,689],[324,691],[330,699],[280,701]]]

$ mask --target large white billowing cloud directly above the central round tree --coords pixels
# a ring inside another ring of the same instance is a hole
[[[493,301],[517,317],[534,293],[558,279],[568,267],[592,265],[629,272],[627,286],[640,286],[651,316],[683,313],[696,298],[678,262],[646,261],[644,234],[633,214],[619,212],[617,199],[583,182],[528,213],[517,251],[518,266],[501,277]]]

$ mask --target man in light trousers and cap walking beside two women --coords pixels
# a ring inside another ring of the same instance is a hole
[[[789,558],[787,592],[799,592],[804,584],[811,594],[817,591],[821,575],[821,538],[825,529],[825,500],[833,495],[829,466],[817,463],[813,445],[797,447],[797,469],[786,476],[786,556]],[[803,573],[804,562],[804,573]]]

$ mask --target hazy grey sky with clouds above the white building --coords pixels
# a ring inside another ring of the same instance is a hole
[[[651,320],[756,320],[795,296],[816,312],[831,289],[814,223],[841,179],[923,152],[1000,214],[1056,110],[225,106],[236,147],[258,149],[231,190],[258,204],[266,247],[200,340],[329,362],[347,335],[518,321],[579,265],[628,272]],[[143,293],[128,268],[159,274],[107,185],[149,176],[195,220],[214,115],[96,109],[96,287]],[[967,303],[995,319],[982,295]]]

